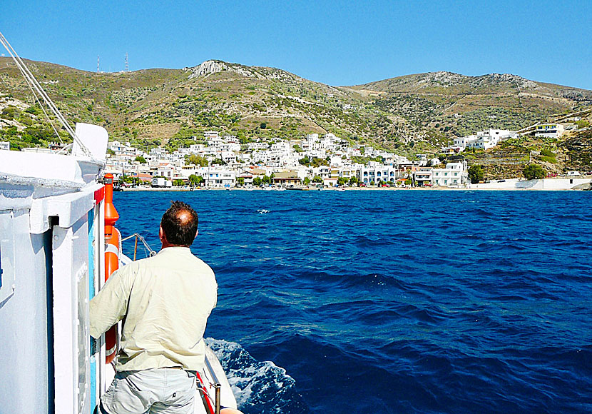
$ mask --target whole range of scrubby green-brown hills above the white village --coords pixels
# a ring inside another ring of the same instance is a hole
[[[243,141],[332,132],[406,155],[437,153],[454,136],[516,130],[592,103],[592,91],[508,74],[433,72],[339,87],[223,61],[119,73],[26,62],[71,121],[98,123],[145,149],[178,148],[215,129]],[[0,80],[0,139],[13,148],[54,140],[11,59],[0,58]]]

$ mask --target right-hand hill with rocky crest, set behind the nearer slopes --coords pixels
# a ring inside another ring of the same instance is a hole
[[[384,111],[444,140],[486,128],[518,130],[592,103],[592,91],[510,74],[432,72],[352,86]]]

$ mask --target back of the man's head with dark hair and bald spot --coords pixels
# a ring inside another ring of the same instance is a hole
[[[191,246],[198,231],[198,213],[183,201],[171,201],[170,204],[160,220],[166,241],[178,246]]]

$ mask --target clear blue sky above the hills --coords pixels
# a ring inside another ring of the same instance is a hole
[[[6,1],[22,57],[96,71],[208,59],[330,85],[428,71],[592,89],[592,1]],[[0,53],[4,53],[1,51]]]

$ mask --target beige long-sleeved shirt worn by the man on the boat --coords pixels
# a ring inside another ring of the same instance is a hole
[[[91,335],[125,318],[116,370],[200,370],[217,291],[214,272],[189,248],[164,248],[113,272],[91,300]]]

